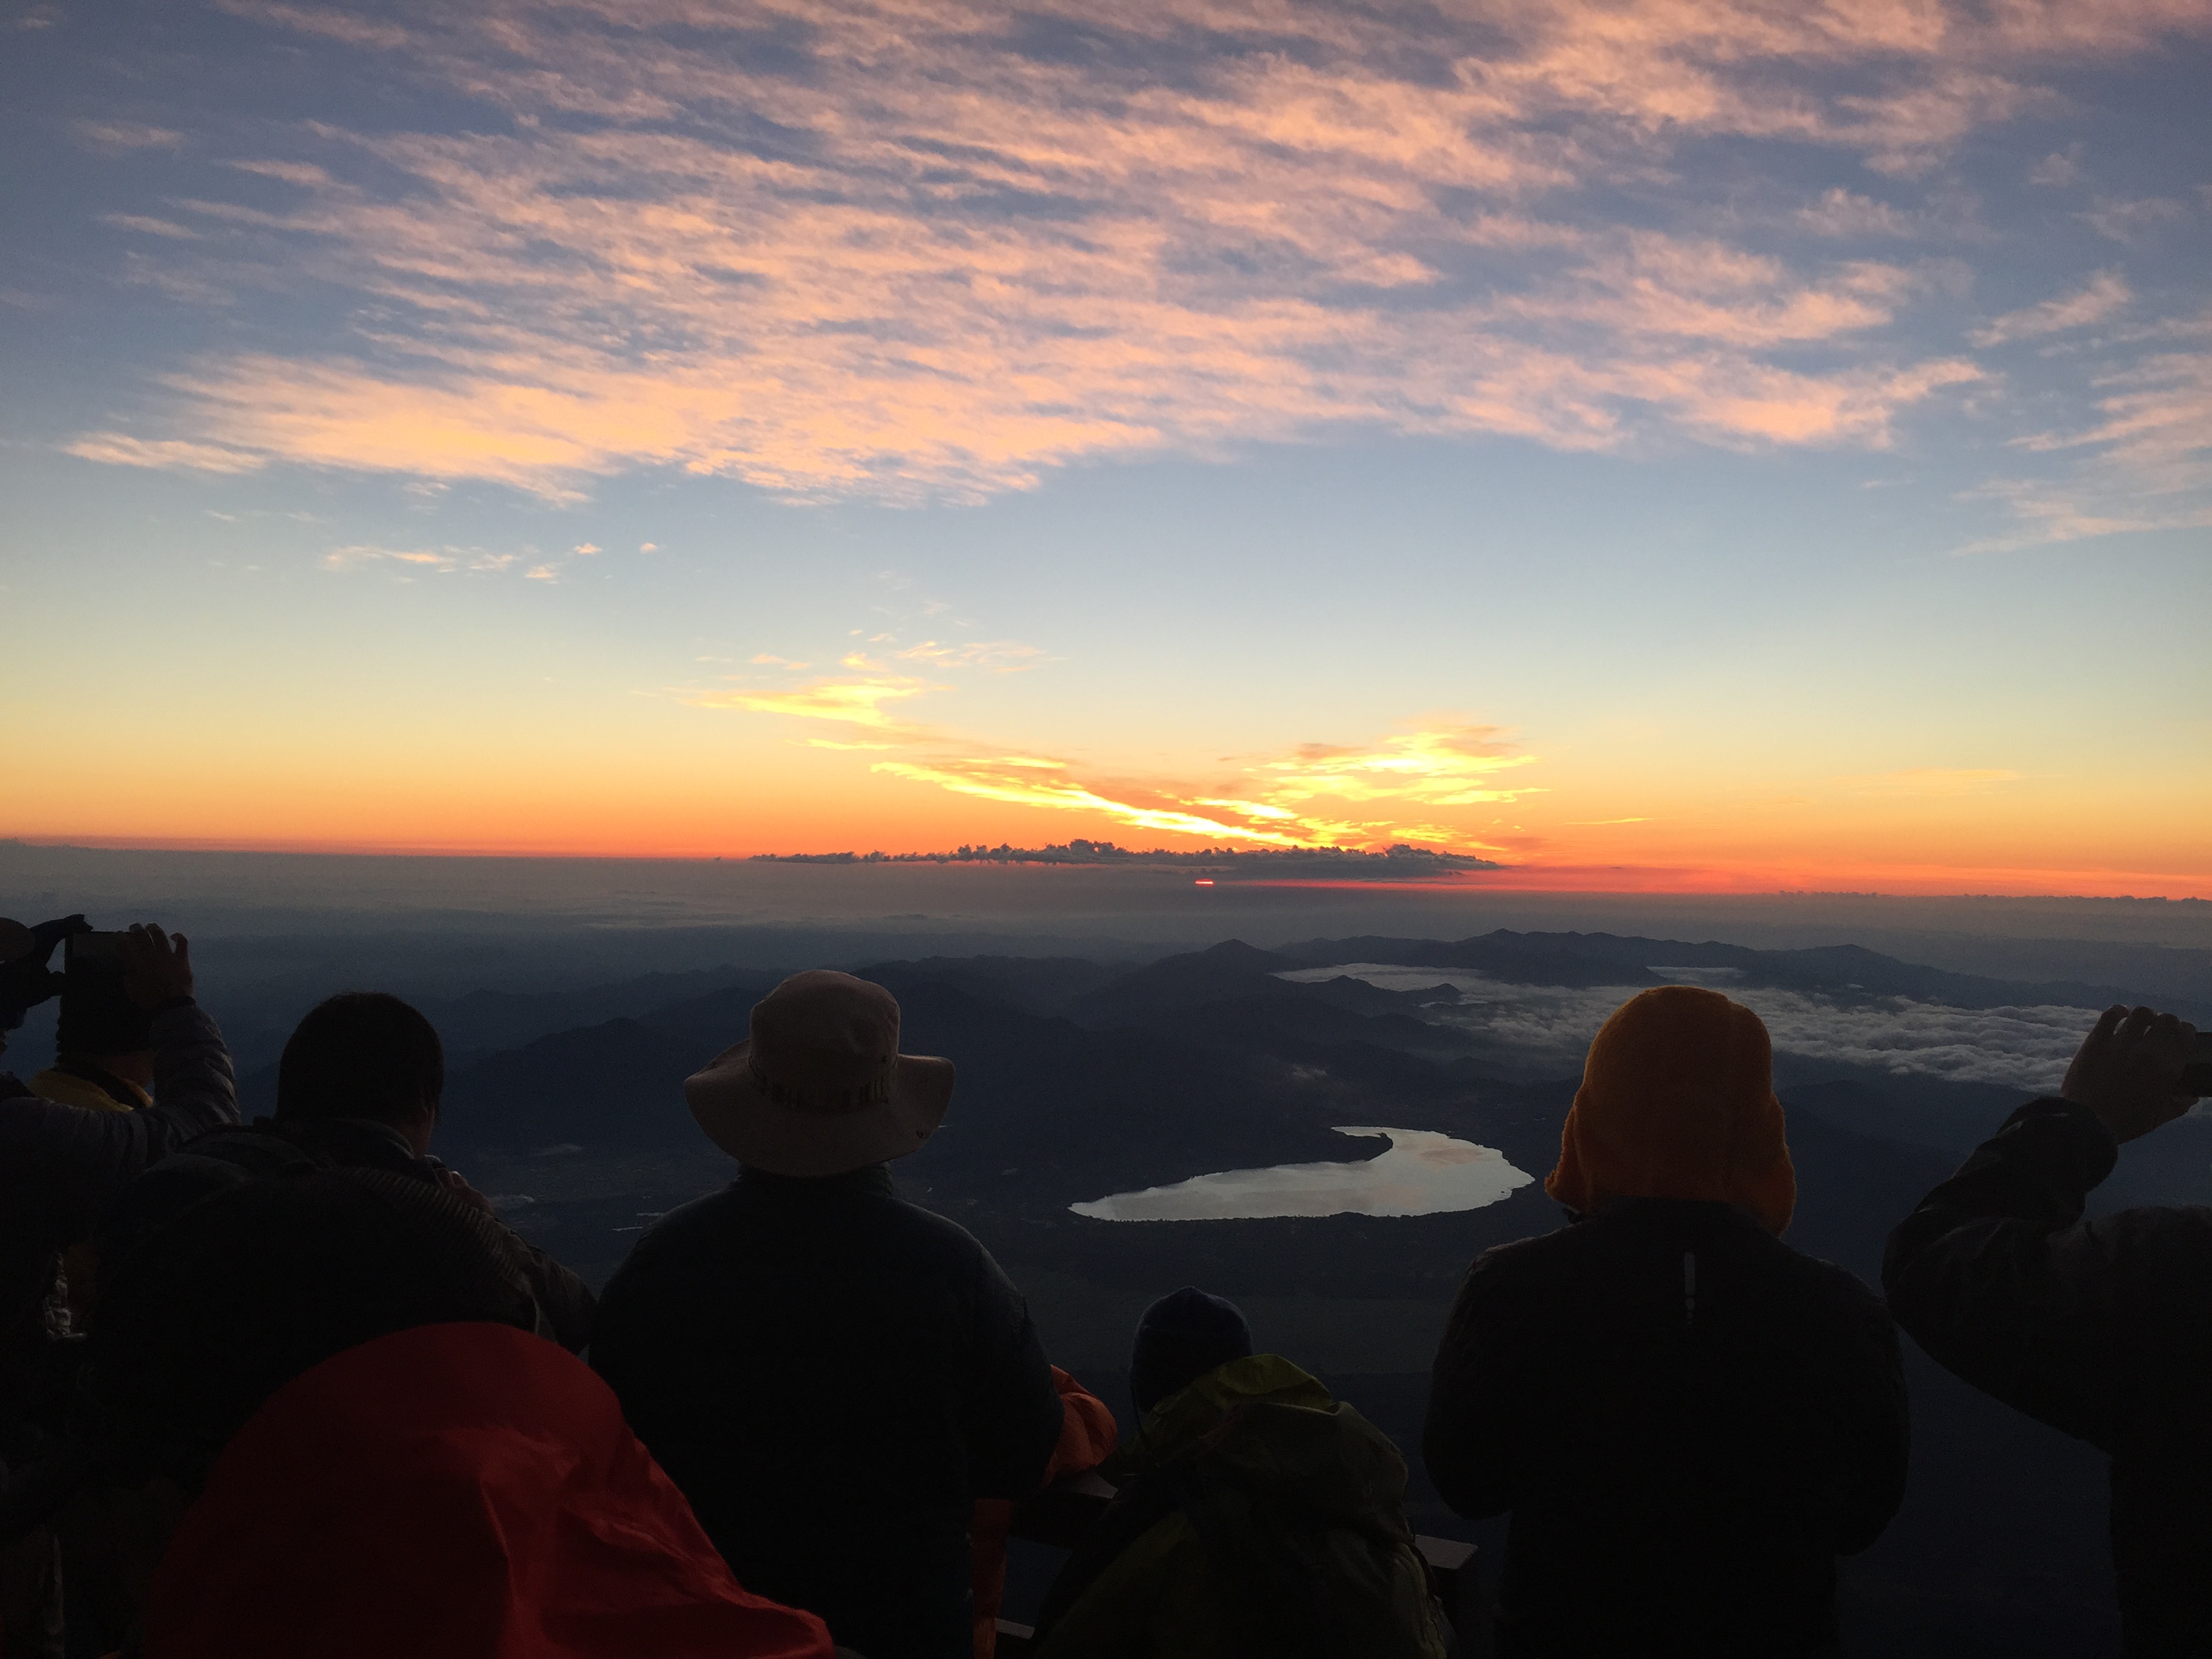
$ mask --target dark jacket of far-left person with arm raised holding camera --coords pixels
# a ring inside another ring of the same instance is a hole
[[[0,1431],[40,1411],[49,1349],[69,1334],[62,1252],[181,1141],[239,1121],[230,1051],[195,1002],[153,1015],[155,1104],[91,1113],[0,1095]]]

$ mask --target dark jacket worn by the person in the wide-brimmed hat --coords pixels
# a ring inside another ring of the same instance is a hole
[[[885,1168],[670,1212],[591,1363],[739,1584],[869,1659],[971,1652],[969,1513],[1037,1489],[1060,1394],[1022,1294]]]

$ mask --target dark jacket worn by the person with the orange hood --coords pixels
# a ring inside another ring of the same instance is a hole
[[[1898,1334],[1732,1206],[1628,1199],[1475,1261],[1422,1455],[1513,1513],[1504,1655],[1823,1652],[1836,1557],[1905,1498]]]

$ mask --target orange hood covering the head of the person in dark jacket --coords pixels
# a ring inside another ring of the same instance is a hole
[[[1590,1042],[1544,1190],[1579,1214],[1617,1199],[1734,1203],[1783,1232],[1796,1172],[1759,1015],[1694,984],[1615,1009]]]

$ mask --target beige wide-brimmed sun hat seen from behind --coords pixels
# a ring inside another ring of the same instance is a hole
[[[752,1035],[684,1079],[699,1128],[770,1175],[845,1175],[918,1152],[953,1097],[953,1062],[898,1053],[898,998],[849,973],[794,973]]]

